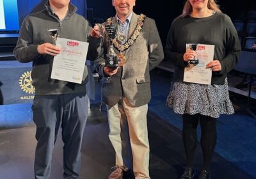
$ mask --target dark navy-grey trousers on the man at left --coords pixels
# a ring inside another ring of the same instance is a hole
[[[62,128],[63,178],[78,178],[81,144],[88,116],[86,93],[36,95],[32,105],[36,124],[35,178],[48,179],[58,130]]]

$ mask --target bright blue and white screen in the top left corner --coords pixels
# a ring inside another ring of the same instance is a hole
[[[17,0],[0,0],[0,31],[19,31]]]

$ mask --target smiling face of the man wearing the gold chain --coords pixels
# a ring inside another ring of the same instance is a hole
[[[112,0],[119,18],[127,17],[132,13],[136,0]]]

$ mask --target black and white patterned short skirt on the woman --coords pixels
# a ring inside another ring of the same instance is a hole
[[[212,118],[218,118],[220,114],[234,114],[227,78],[223,85],[172,82],[166,105],[178,114],[199,113]]]

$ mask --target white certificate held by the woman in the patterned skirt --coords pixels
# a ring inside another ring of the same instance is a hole
[[[186,44],[186,49],[189,43]],[[207,63],[213,60],[214,45],[205,45],[198,43],[196,46],[198,64],[188,64],[184,70],[185,82],[193,82],[198,84],[211,84],[212,71],[206,69]]]

